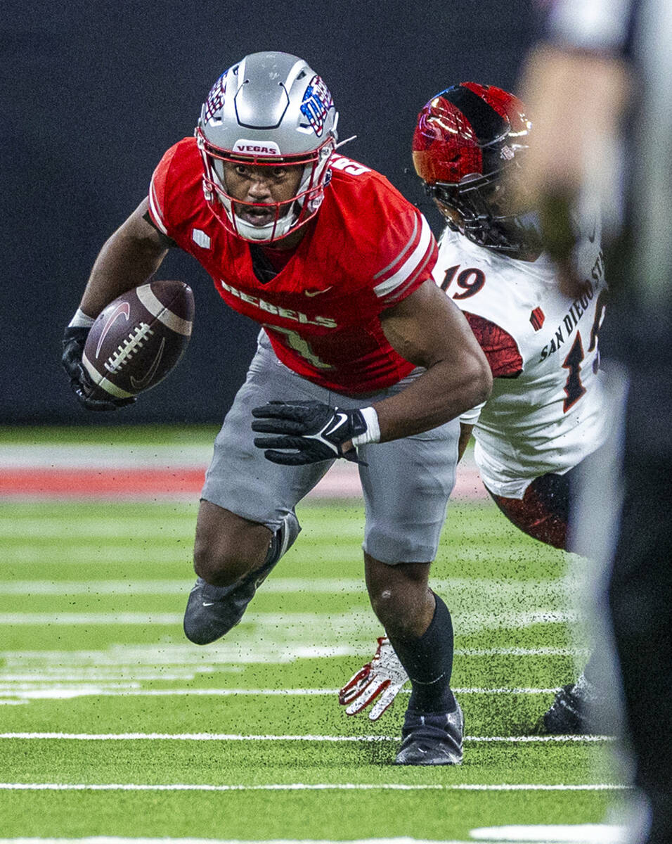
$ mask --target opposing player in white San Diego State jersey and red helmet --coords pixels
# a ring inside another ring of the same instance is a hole
[[[506,91],[454,85],[420,112],[413,163],[446,220],[435,280],[464,311],[494,376],[487,402],[460,419],[460,457],[473,433],[476,465],[499,509],[524,533],[567,549],[570,484],[607,425],[598,374],[604,259],[596,221],[578,244],[583,292],[559,291],[534,216],[517,213],[511,198],[513,181],[524,179],[530,126]],[[541,720],[547,732],[590,731],[589,674],[590,663],[556,695]],[[378,696],[371,717],[379,717],[402,684],[382,640],[341,702],[354,714]]]

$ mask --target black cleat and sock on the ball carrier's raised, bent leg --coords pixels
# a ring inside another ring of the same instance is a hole
[[[209,645],[239,624],[256,590],[291,548],[300,529],[297,517],[289,513],[271,539],[264,565],[230,586],[212,586],[199,577],[186,603],[183,626],[187,639],[195,645]]]

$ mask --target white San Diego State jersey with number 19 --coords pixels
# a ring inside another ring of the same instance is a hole
[[[515,260],[450,230],[439,242],[435,280],[465,312],[496,376],[474,428],[474,457],[487,488],[506,498],[521,498],[542,474],[567,472],[605,439],[599,234],[579,246],[585,284],[573,300],[545,255]]]

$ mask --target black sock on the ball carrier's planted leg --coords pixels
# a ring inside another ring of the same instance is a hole
[[[457,703],[450,690],[453,671],[453,622],[438,597],[433,619],[419,639],[395,640],[389,636],[397,657],[411,679],[408,708],[417,712],[452,712]]]

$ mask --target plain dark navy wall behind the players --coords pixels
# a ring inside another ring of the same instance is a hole
[[[224,306],[193,258],[171,251],[159,278],[196,296],[180,366],[132,408],[89,414],[60,367],[105,239],[146,195],[164,150],[191,135],[212,83],[246,53],[305,58],[340,112],[344,152],[438,215],[412,170],[417,112],[477,81],[515,90],[534,37],[531,0],[412,3],[3,3],[0,121],[0,424],[219,422],[257,329]]]

